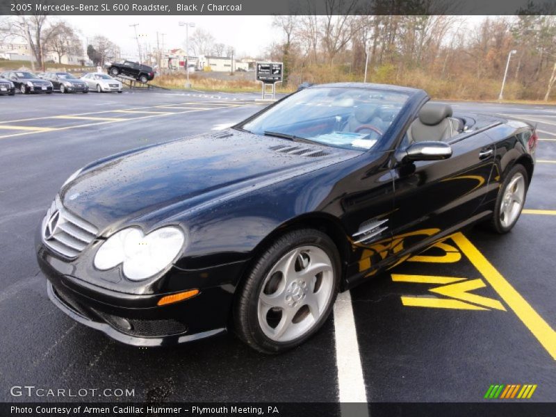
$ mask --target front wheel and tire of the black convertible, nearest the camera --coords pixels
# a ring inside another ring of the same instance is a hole
[[[316,273],[304,275],[311,265]],[[256,259],[238,287],[234,331],[267,354],[301,345],[329,317],[340,272],[340,256],[329,236],[315,229],[284,234]]]

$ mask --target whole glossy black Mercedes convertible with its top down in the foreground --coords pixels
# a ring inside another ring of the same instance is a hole
[[[423,90],[304,88],[230,129],[133,149],[64,183],[36,250],[51,300],[123,343],[233,329],[275,353],[345,291],[475,222],[519,218],[537,136]]]

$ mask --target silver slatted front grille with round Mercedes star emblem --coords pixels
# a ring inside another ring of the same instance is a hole
[[[79,255],[98,232],[95,226],[63,208],[58,197],[42,220],[44,243],[67,258]]]

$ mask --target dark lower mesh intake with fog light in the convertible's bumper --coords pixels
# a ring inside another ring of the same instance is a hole
[[[172,319],[142,320],[139,318],[123,318],[112,314],[97,311],[95,313],[114,327],[118,332],[131,336],[162,337],[187,332],[187,326],[182,322]]]

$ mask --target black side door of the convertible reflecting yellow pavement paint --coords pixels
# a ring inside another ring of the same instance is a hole
[[[451,234],[477,215],[493,170],[493,141],[479,132],[461,133],[448,143],[452,156],[443,161],[394,162],[390,255],[406,259],[411,250]]]

